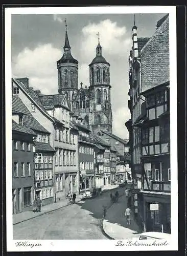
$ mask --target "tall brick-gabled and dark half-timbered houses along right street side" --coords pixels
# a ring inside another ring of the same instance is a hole
[[[144,231],[170,233],[169,15],[151,38],[132,28],[129,84],[134,213]]]

